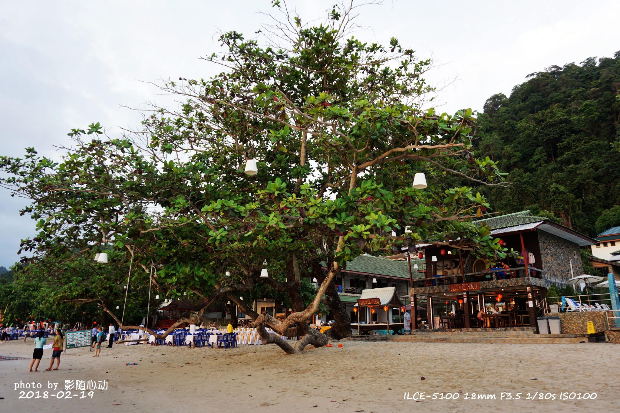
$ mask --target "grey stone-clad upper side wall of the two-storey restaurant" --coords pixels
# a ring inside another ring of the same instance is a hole
[[[573,276],[583,274],[581,254],[577,243],[540,230],[538,241],[541,248],[544,278],[560,283],[567,282],[570,279],[571,259]]]

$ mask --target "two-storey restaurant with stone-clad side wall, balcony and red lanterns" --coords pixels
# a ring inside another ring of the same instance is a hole
[[[412,320],[417,320],[420,305],[427,311],[426,320],[414,323],[414,329],[535,328],[547,289],[562,287],[583,274],[579,248],[596,243],[529,211],[482,222],[500,238],[500,245],[513,248],[522,258],[508,258],[490,267],[471,251],[423,246],[426,271],[423,278],[414,280]],[[476,317],[480,309],[487,313],[482,321]]]

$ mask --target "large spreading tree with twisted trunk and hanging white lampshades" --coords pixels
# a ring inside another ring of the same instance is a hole
[[[2,157],[11,175],[2,186],[31,199],[24,212],[37,220],[24,261],[124,250],[139,271],[156,270],[157,292],[201,297],[205,308],[230,300],[265,344],[293,354],[327,344],[308,324],[323,299],[332,337],[350,335],[334,277],[360,254],[422,241],[505,254],[488,227],[472,224],[489,204],[471,188],[412,187],[419,172],[503,180],[495,162],[471,153],[471,110],[424,108],[430,61],[396,38],[382,46],[352,37],[353,6],[309,25],[276,3],[283,19],[259,40],[221,35],[224,51],[205,58],[221,65],[217,76],[157,84],[178,109],[153,107],[120,137],[99,124],[73,129],[60,163],[34,149]],[[244,173],[247,160],[255,175]],[[302,287],[312,277],[319,286],[309,296]],[[285,320],[252,310],[265,290],[293,310]],[[291,346],[267,328],[301,339]]]

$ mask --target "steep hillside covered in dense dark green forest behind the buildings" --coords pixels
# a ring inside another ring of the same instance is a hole
[[[620,204],[620,51],[527,78],[478,118],[476,150],[500,161],[511,186],[478,189],[494,212],[553,214],[596,235],[596,219]]]

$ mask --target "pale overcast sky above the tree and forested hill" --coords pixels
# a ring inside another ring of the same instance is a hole
[[[306,21],[333,3],[288,2]],[[145,82],[211,76],[215,68],[197,57],[220,50],[218,31],[254,37],[267,22],[259,11],[272,11],[270,1],[0,0],[0,155],[34,146],[58,157],[53,145],[71,128],[99,121],[114,135],[138,125],[121,105],[161,102]],[[433,58],[427,80],[451,113],[481,110],[545,67],[613,56],[618,15],[619,1],[386,1],[361,11],[369,28],[356,35],[383,44],[397,37]],[[19,216],[26,203],[0,189],[0,266],[17,261],[20,239],[34,233]]]

